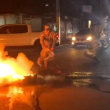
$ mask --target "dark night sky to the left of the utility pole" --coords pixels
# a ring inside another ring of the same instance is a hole
[[[45,4],[49,4],[45,7]],[[43,14],[55,11],[55,0],[0,0],[0,13],[26,12]]]

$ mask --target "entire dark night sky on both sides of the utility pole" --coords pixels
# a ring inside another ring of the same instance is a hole
[[[108,1],[108,0],[104,0]],[[61,0],[61,14],[74,16],[82,12],[82,5],[93,5],[93,11],[99,12],[100,0]],[[45,4],[49,4],[45,7]],[[55,0],[0,0],[0,13],[55,13]]]

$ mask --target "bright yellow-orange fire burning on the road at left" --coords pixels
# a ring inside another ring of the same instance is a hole
[[[23,53],[19,53],[17,58],[7,57],[4,51],[5,46],[0,44],[0,85],[10,84],[18,80],[23,80],[25,76],[33,76],[30,70],[33,62]]]

